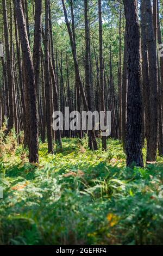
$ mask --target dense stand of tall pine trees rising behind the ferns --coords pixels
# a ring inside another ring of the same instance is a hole
[[[84,136],[52,131],[52,113],[64,113],[65,106],[70,112],[111,111],[111,137],[123,142],[129,165],[142,166],[145,138],[148,162],[156,161],[158,145],[163,154],[163,64],[156,51],[162,42],[161,4],[2,1],[1,126],[8,120],[8,131],[24,131],[30,162],[38,161],[38,136],[42,142],[47,137],[49,153],[54,140],[61,147],[61,137]],[[139,81],[131,84],[130,76]],[[88,136],[96,150],[97,134]]]

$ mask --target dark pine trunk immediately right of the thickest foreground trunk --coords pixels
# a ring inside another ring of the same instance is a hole
[[[154,0],[155,1],[155,0]],[[142,0],[146,19],[146,36],[149,64],[149,140],[147,145],[147,162],[155,162],[158,149],[158,63],[156,51],[156,29],[153,25],[151,0]]]

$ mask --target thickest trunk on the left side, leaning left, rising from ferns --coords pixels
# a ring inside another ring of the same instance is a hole
[[[21,0],[14,0],[18,32],[20,35],[21,47],[23,52],[24,72],[26,77],[26,91],[28,94],[28,111],[29,111],[29,162],[39,161],[39,143],[38,143],[38,118],[36,107],[36,88],[34,78],[34,67],[32,55],[30,53],[30,46],[26,28],[26,21],[24,19]]]

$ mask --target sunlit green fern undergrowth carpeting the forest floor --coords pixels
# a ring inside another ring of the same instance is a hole
[[[120,142],[86,145],[65,138],[49,155],[40,144],[34,165],[13,134],[0,139],[1,245],[163,244],[163,159],[130,169]]]

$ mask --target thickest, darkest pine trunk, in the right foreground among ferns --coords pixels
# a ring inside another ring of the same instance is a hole
[[[140,29],[136,0],[123,0],[127,26],[128,101],[127,166],[143,166]]]

